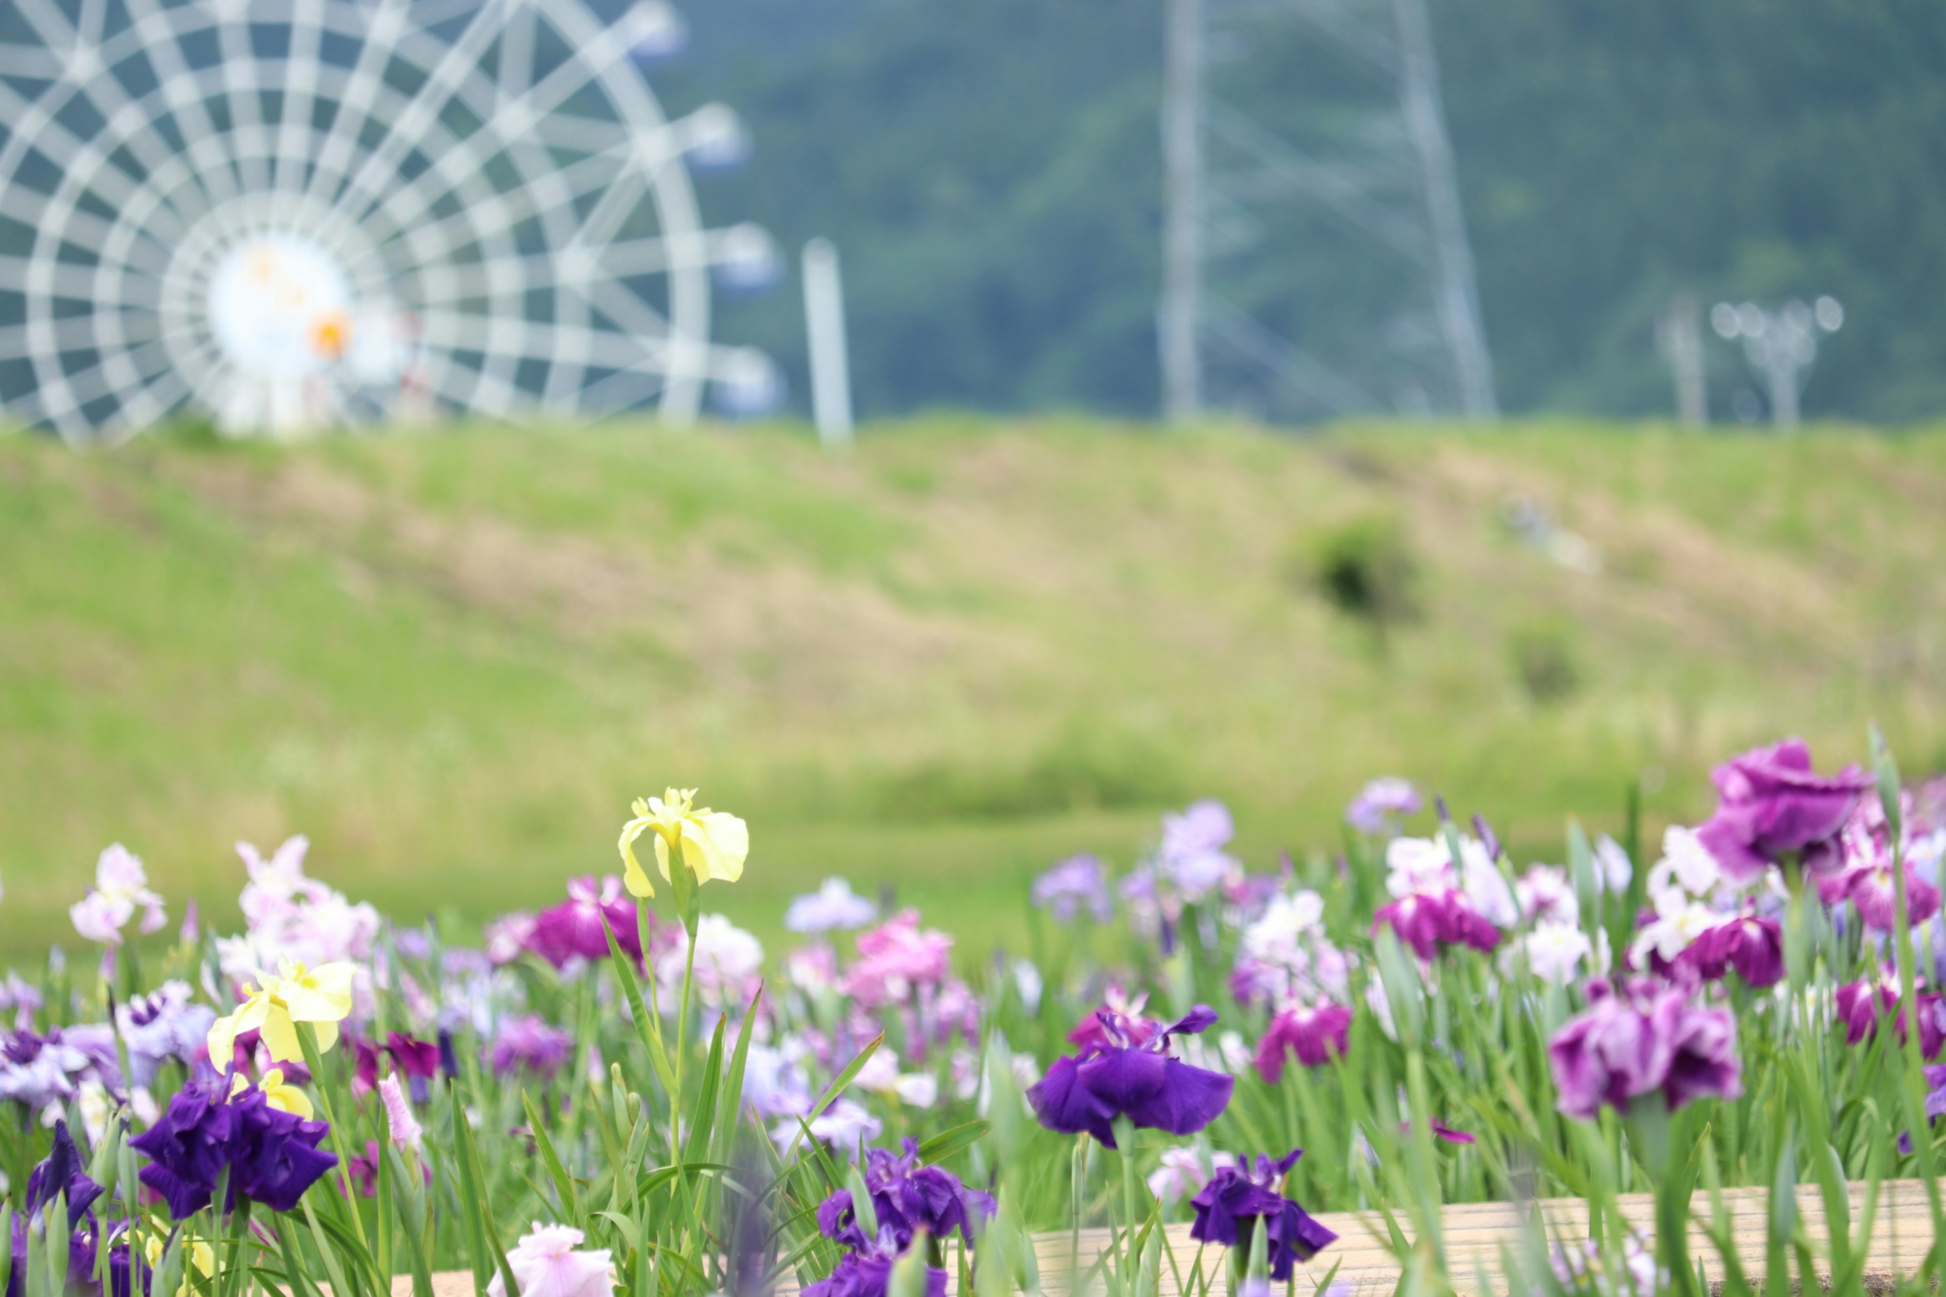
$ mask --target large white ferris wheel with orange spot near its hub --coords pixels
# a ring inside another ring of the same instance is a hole
[[[0,418],[70,441],[432,414],[693,420],[775,366],[710,340],[722,105],[664,115],[664,0],[6,0]]]

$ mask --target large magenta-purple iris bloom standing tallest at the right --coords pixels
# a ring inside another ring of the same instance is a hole
[[[1697,838],[1732,883],[1748,883],[1790,854],[1814,873],[1835,869],[1839,830],[1872,788],[1872,776],[1858,766],[1820,776],[1802,739],[1732,756],[1711,772],[1711,782],[1718,805]]]

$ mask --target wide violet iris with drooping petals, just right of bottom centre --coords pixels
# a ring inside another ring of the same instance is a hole
[[[1199,1003],[1189,1017],[1142,1044],[1131,1038],[1119,1013],[1101,1011],[1098,1017],[1111,1042],[1055,1060],[1047,1075],[1027,1089],[1027,1103],[1047,1130],[1066,1136],[1086,1132],[1103,1147],[1115,1147],[1117,1116],[1148,1130],[1191,1136],[1230,1104],[1236,1085],[1230,1077],[1191,1068],[1168,1052],[1170,1036],[1195,1034],[1216,1021],[1208,1005]]]

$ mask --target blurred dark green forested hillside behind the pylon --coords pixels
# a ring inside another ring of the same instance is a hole
[[[738,107],[755,156],[712,222],[847,259],[860,412],[1156,408],[1160,0],[687,0],[658,89]],[[1676,292],[1833,294],[1806,414],[1946,408],[1946,6],[1938,0],[1430,0],[1508,410],[1660,414]],[[1315,124],[1327,49],[1255,51],[1222,91]],[[1253,264],[1302,331],[1382,292],[1358,231],[1296,224]],[[722,334],[804,404],[794,276]],[[1748,383],[1711,338],[1712,414]]]

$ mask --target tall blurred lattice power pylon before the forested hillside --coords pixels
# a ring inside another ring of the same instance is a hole
[[[1424,0],[1166,4],[1164,414],[1495,418]]]

